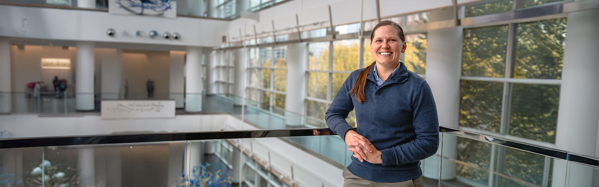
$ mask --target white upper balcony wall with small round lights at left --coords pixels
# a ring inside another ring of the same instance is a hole
[[[0,36],[50,40],[108,41],[176,46],[219,46],[229,23],[225,20],[109,14],[104,11],[65,10],[0,5]],[[116,30],[114,37],[107,29]],[[180,40],[150,38],[148,32],[179,32]],[[142,37],[135,32],[143,31]]]

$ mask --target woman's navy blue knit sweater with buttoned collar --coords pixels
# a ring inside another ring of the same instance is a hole
[[[350,74],[326,110],[326,125],[345,140],[352,129],[346,122],[350,111],[356,110],[358,134],[368,138],[381,152],[382,164],[360,162],[352,156],[347,169],[355,176],[373,182],[402,182],[422,176],[420,160],[437,152],[438,117],[431,88],[422,77],[400,69],[377,86],[373,70],[368,73],[360,104],[347,94],[360,71]]]

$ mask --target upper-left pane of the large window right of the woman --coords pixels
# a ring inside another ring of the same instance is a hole
[[[462,75],[504,77],[507,25],[464,29]]]

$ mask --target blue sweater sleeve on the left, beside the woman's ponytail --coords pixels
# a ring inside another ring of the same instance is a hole
[[[349,112],[353,110],[352,95],[347,94],[351,90],[349,89],[351,83],[352,81],[347,77],[325,113],[326,126],[338,134],[343,141],[345,141],[345,132],[353,129],[345,120]]]

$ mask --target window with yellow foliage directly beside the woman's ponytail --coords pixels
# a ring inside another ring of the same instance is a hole
[[[360,40],[352,39],[308,44],[308,124],[326,126],[326,109],[349,74],[359,68],[359,43]],[[350,112],[347,123],[356,126],[355,111]]]

